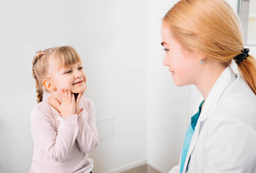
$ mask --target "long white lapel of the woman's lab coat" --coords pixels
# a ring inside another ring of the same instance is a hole
[[[200,129],[202,128],[204,121],[212,115],[213,111],[215,110],[215,107],[217,105],[218,99],[220,99],[221,95],[223,94],[223,91],[226,89],[227,86],[231,84],[232,81],[236,79],[236,74],[234,74],[234,71],[230,66],[228,66],[219,76],[216,83],[213,85],[213,88],[210,90],[210,93],[208,94],[207,99],[205,99],[205,103],[202,107],[200,117],[197,121],[197,125],[195,127],[195,132],[192,136],[192,140],[189,146],[189,151],[187,152],[187,157],[184,163],[184,169],[183,173],[186,172],[187,164],[189,162],[189,157],[195,148],[195,144],[197,142],[197,138],[200,133]]]

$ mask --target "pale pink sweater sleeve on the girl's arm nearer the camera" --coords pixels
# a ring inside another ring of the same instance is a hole
[[[51,117],[46,112],[34,109],[30,113],[34,143],[40,146],[48,158],[64,162],[77,137],[77,115],[70,115],[67,118],[58,116],[57,120],[59,120],[59,128],[56,130]]]

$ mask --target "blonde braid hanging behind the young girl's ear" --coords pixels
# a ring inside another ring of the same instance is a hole
[[[43,101],[43,84],[40,78],[41,71],[40,70],[40,63],[38,62],[40,58],[43,58],[46,53],[43,51],[38,51],[36,56],[34,56],[32,61],[32,71],[33,71],[33,78],[35,79],[35,87],[36,87],[36,93],[37,93],[37,101],[38,103]]]

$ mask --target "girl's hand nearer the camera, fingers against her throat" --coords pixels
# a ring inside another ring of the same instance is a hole
[[[61,91],[61,99],[62,102],[59,101],[59,112],[61,112],[61,116],[69,117],[76,113],[76,102],[74,100],[74,94],[71,93],[68,89],[63,89]]]

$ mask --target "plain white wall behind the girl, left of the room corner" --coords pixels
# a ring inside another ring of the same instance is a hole
[[[112,117],[114,136],[90,155],[94,172],[147,159],[146,1],[0,1],[0,172],[28,172],[36,104],[31,61],[56,45],[77,49],[97,118]],[[110,122],[111,122],[110,121]],[[110,124],[111,125],[111,124]]]

